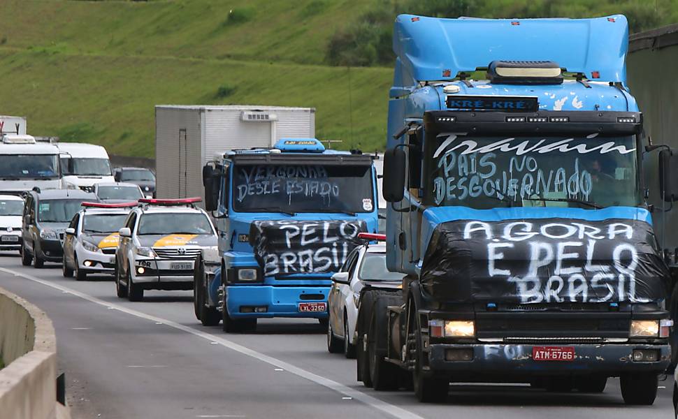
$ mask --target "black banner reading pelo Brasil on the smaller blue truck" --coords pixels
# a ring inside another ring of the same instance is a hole
[[[363,221],[254,221],[250,243],[266,276],[337,272],[362,242]]]

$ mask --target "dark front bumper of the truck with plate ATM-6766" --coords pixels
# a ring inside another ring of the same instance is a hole
[[[570,361],[533,360],[534,346],[571,346],[575,358]],[[663,372],[671,358],[668,344],[431,344],[429,370],[431,373],[448,373],[456,377],[470,374],[475,378],[497,375],[505,378],[540,375],[601,374],[619,376],[627,372]],[[449,360],[449,351],[473,349],[473,359]],[[633,360],[635,349],[657,351],[655,362]]]

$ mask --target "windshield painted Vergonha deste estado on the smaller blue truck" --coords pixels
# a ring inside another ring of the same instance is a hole
[[[371,166],[238,165],[233,168],[238,212],[372,212]]]

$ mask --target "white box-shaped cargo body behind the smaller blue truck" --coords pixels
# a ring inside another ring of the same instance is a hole
[[[156,196],[204,199],[202,169],[216,153],[314,137],[315,108],[157,105]]]

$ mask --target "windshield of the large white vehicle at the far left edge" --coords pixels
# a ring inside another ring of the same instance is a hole
[[[0,179],[56,179],[58,158],[56,154],[0,154]]]

